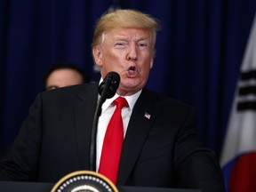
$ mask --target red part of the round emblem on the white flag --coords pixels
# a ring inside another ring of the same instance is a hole
[[[229,178],[230,192],[256,191],[256,152],[240,156]]]

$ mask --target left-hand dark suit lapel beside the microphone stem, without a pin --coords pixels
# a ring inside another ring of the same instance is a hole
[[[92,122],[97,105],[98,84],[89,84],[78,95],[75,104],[76,139],[78,156],[82,169],[89,170]]]

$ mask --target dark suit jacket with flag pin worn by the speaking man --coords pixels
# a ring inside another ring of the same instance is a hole
[[[0,162],[0,179],[56,182],[88,170],[97,90],[98,84],[82,84],[38,94]],[[144,89],[125,135],[117,185],[224,191],[220,165],[195,127],[193,108]]]

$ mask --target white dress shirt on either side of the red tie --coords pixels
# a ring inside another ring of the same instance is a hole
[[[125,133],[127,131],[127,126],[129,124],[130,117],[132,115],[132,109],[135,105],[136,100],[140,96],[140,92],[136,92],[135,94],[133,94],[131,96],[124,96],[124,98],[127,100],[128,105],[129,105],[127,108],[122,108],[122,117],[123,117],[123,122],[124,122],[124,137],[125,137]],[[110,118],[116,109],[116,105],[113,104],[113,101],[116,100],[116,98],[119,96],[120,95],[118,95],[116,93],[114,95],[114,97],[106,100],[102,104],[102,110],[101,110],[101,115],[99,117],[97,139],[96,139],[96,143],[97,143],[97,145],[96,145],[96,171],[97,172],[99,170],[101,150],[102,150],[102,146],[103,146],[104,136],[105,136],[105,133],[106,133],[107,127],[108,127],[108,122],[110,121]]]

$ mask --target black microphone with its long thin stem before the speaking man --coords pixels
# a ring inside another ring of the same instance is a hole
[[[92,124],[92,137],[91,137],[91,148],[90,148],[90,170],[95,170],[95,157],[96,157],[96,135],[98,120],[101,114],[101,106],[105,100],[112,98],[116,94],[116,90],[120,84],[120,76],[111,71],[105,76],[103,82],[100,84],[98,92],[100,93],[100,100],[98,101],[96,110],[94,112],[93,124]]]

